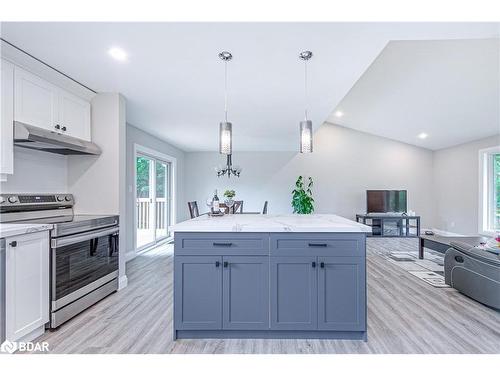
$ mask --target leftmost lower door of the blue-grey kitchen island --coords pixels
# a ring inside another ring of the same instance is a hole
[[[176,256],[174,267],[176,329],[221,329],[222,258]]]

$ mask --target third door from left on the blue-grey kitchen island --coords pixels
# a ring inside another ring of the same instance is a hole
[[[271,257],[271,329],[317,328],[316,257]]]

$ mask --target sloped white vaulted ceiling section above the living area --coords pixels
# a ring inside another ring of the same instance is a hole
[[[432,150],[500,134],[499,46],[390,42],[328,121]]]

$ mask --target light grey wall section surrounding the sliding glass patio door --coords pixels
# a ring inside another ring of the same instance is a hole
[[[165,154],[174,157],[177,160],[177,174],[175,177],[176,186],[176,219],[177,221],[182,221],[187,219],[187,213],[183,209],[184,207],[184,155],[185,153],[178,148],[162,141],[161,139],[154,137],[130,124],[127,124],[127,152],[126,152],[126,179],[127,179],[127,193],[126,193],[126,216],[127,223],[125,227],[126,235],[126,246],[128,258],[131,258],[135,253],[135,223],[134,223],[134,211],[135,211],[135,192],[134,192],[134,144],[152,149],[161,154]]]

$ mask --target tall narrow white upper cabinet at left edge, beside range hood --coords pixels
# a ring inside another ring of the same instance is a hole
[[[1,61],[0,181],[14,173],[14,65]]]

